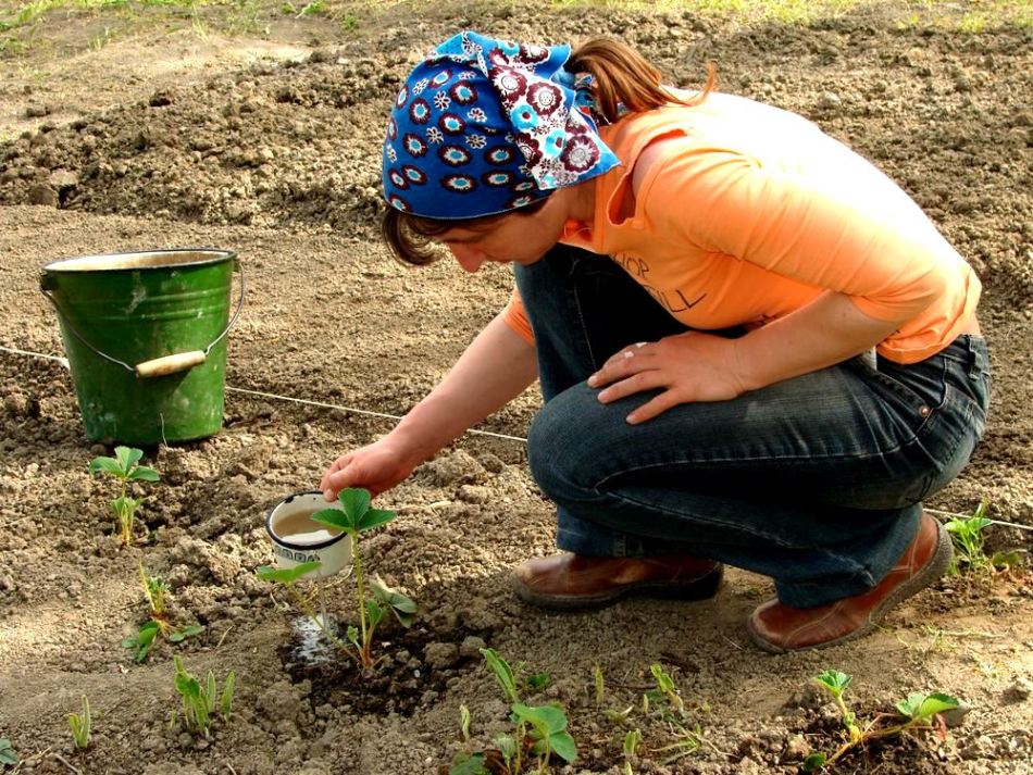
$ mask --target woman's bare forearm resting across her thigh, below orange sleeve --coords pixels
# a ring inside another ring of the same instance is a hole
[[[870,317],[849,297],[826,291],[807,307],[734,340],[734,368],[743,387],[756,390],[870,350],[903,322]]]

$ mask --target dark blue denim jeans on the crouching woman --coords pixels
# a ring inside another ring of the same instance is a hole
[[[986,346],[969,335],[920,363],[858,357],[628,425],[656,393],[602,404],[585,379],[686,328],[607,257],[558,246],[515,274],[545,399],[531,472],[557,504],[561,549],[711,558],[771,576],[787,605],[821,605],[893,568],[922,499],[983,434]]]

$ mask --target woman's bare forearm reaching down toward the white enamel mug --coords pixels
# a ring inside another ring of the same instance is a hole
[[[523,392],[537,373],[534,346],[496,316],[390,436],[423,462]]]

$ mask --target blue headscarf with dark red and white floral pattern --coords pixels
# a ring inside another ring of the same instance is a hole
[[[384,141],[384,198],[431,218],[493,215],[545,199],[620,162],[596,130],[590,76],[569,46],[466,30],[406,79]]]

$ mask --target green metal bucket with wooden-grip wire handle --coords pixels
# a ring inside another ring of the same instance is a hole
[[[42,267],[86,435],[154,445],[223,423],[236,253],[209,248],[85,255]]]

